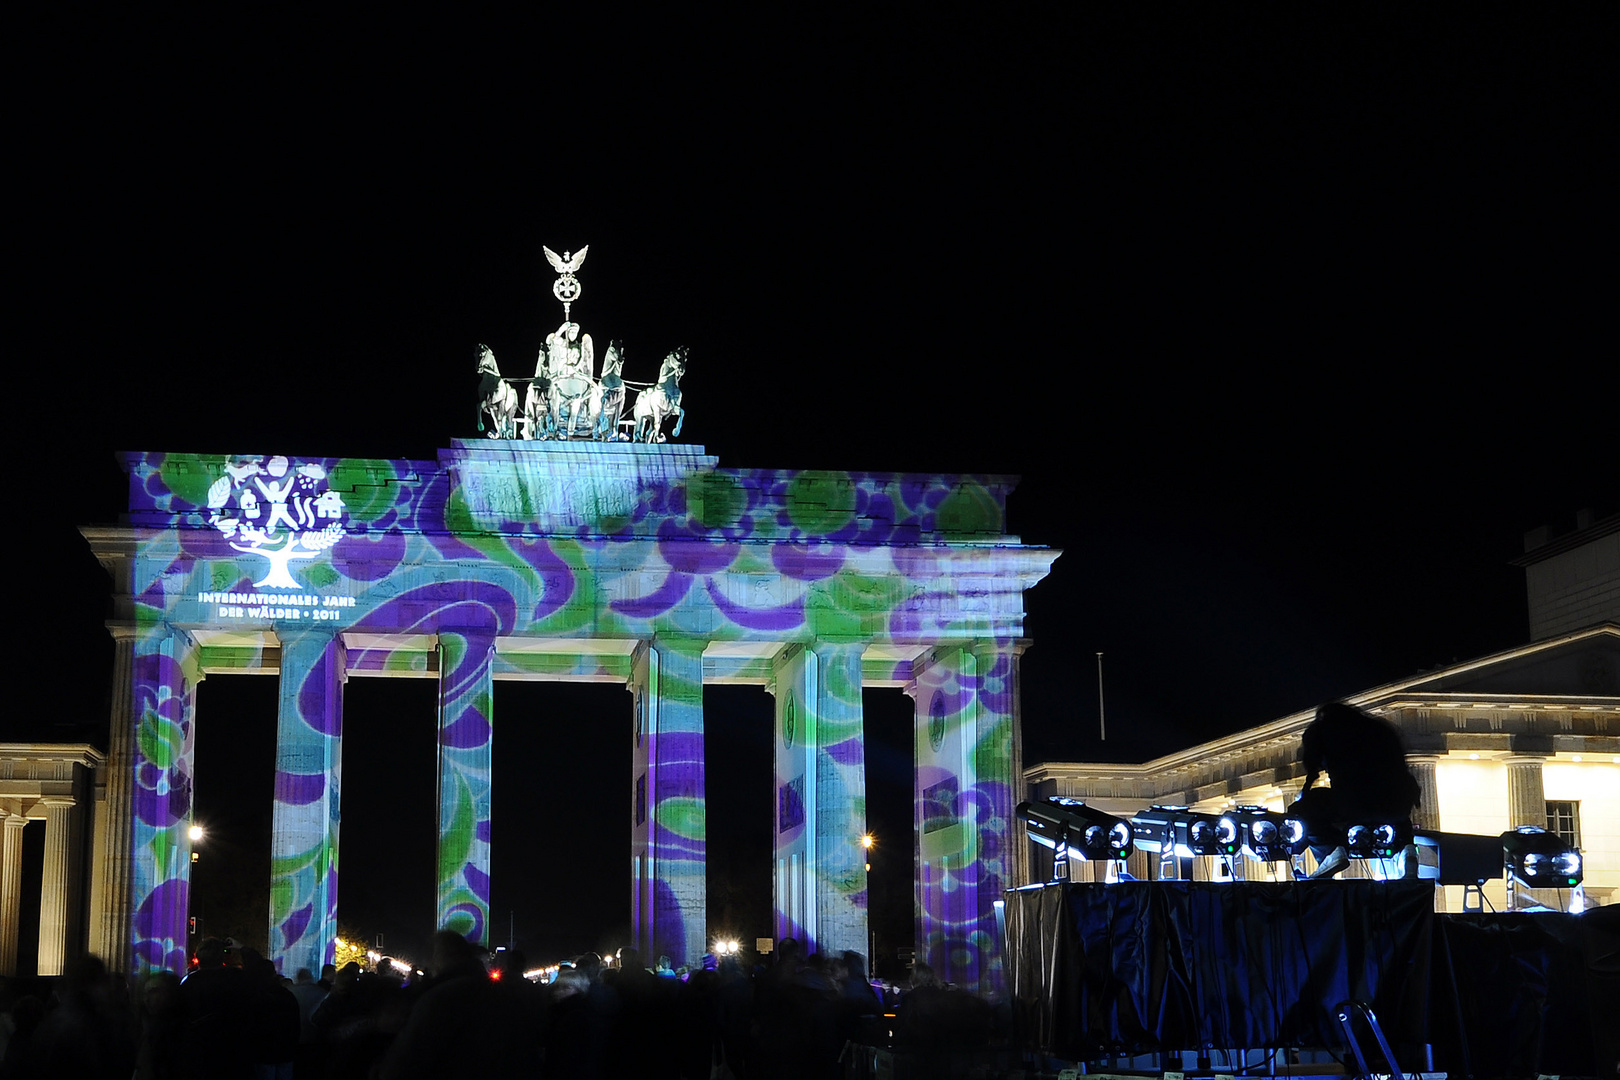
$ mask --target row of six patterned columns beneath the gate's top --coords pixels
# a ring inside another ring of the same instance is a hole
[[[139,635],[115,628],[113,636],[120,654],[130,654]],[[489,938],[491,845],[499,836],[491,823],[492,690],[497,677],[515,675],[502,657],[515,643],[467,627],[413,643],[429,657],[415,674],[436,675],[441,687],[436,925],[475,941]],[[727,664],[724,648],[706,657],[710,644],[680,635],[617,643],[627,651],[622,675],[593,675],[614,677],[632,693],[637,944],[677,962],[697,962],[710,947],[703,687],[752,682],[774,703],[773,933],[815,950],[865,952],[862,688],[886,685],[904,690],[915,714],[919,955],[954,981],[995,984],[995,904],[1027,876],[1022,845],[1008,844],[1021,776],[1017,665],[1027,643],[941,643],[873,659],[872,643],[812,640],[755,649],[766,654],[742,664]],[[334,955],[343,687],[352,675],[382,674],[387,664],[366,661],[374,651],[352,646],[339,630],[298,628],[261,646],[251,669],[280,680],[267,887],[271,955],[287,973],[319,970]],[[113,725],[110,761],[131,761],[141,746],[141,767],[157,764],[162,772],[141,779],[120,776],[117,764],[109,769],[91,942],[122,970],[181,963],[190,944],[193,745],[196,724],[207,724],[196,716],[196,687],[211,669],[241,670],[206,653],[194,631],[157,627],[144,635],[143,659],[120,662],[131,677],[117,687],[113,706],[128,719]],[[167,733],[154,735],[154,722]],[[167,758],[167,750],[154,751],[159,737],[172,750]],[[120,814],[120,806],[131,813]],[[120,858],[120,848],[130,855]],[[113,873],[122,866],[133,873]]]

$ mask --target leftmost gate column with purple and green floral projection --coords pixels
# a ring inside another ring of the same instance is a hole
[[[186,970],[193,708],[201,677],[196,643],[183,630],[159,623],[136,638],[126,717],[134,763],[130,938],[136,978],[159,968]]]

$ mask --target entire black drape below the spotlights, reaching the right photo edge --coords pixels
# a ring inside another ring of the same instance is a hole
[[[1008,976],[1030,1049],[1343,1046],[1366,1001],[1403,1065],[1614,1075],[1620,908],[1435,915],[1429,882],[1128,881],[1008,894]]]

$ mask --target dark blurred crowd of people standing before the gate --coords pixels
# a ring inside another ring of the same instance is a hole
[[[491,963],[457,934],[434,936],[426,976],[327,967],[277,975],[251,949],[206,941],[181,981],[136,988],[94,957],[49,1001],[0,994],[0,1080],[337,1080],[478,1077],[831,1078],[854,1046],[961,1061],[993,1038],[990,1006],[919,963],[902,993],[878,993],[862,959],[804,957],[782,941],[770,967],[705,957],[669,978],[625,949],[551,984],[523,957]],[[888,997],[888,1001],[885,1001]],[[923,1064],[923,1062],[919,1062]],[[930,1074],[923,1074],[930,1075]]]

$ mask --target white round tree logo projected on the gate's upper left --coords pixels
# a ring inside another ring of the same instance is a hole
[[[314,461],[288,470],[275,455],[227,465],[207,489],[207,508],[209,525],[232,547],[269,559],[271,572],[253,583],[258,589],[303,588],[288,563],[314,559],[345,536],[343,497],[326,486],[326,468]]]

